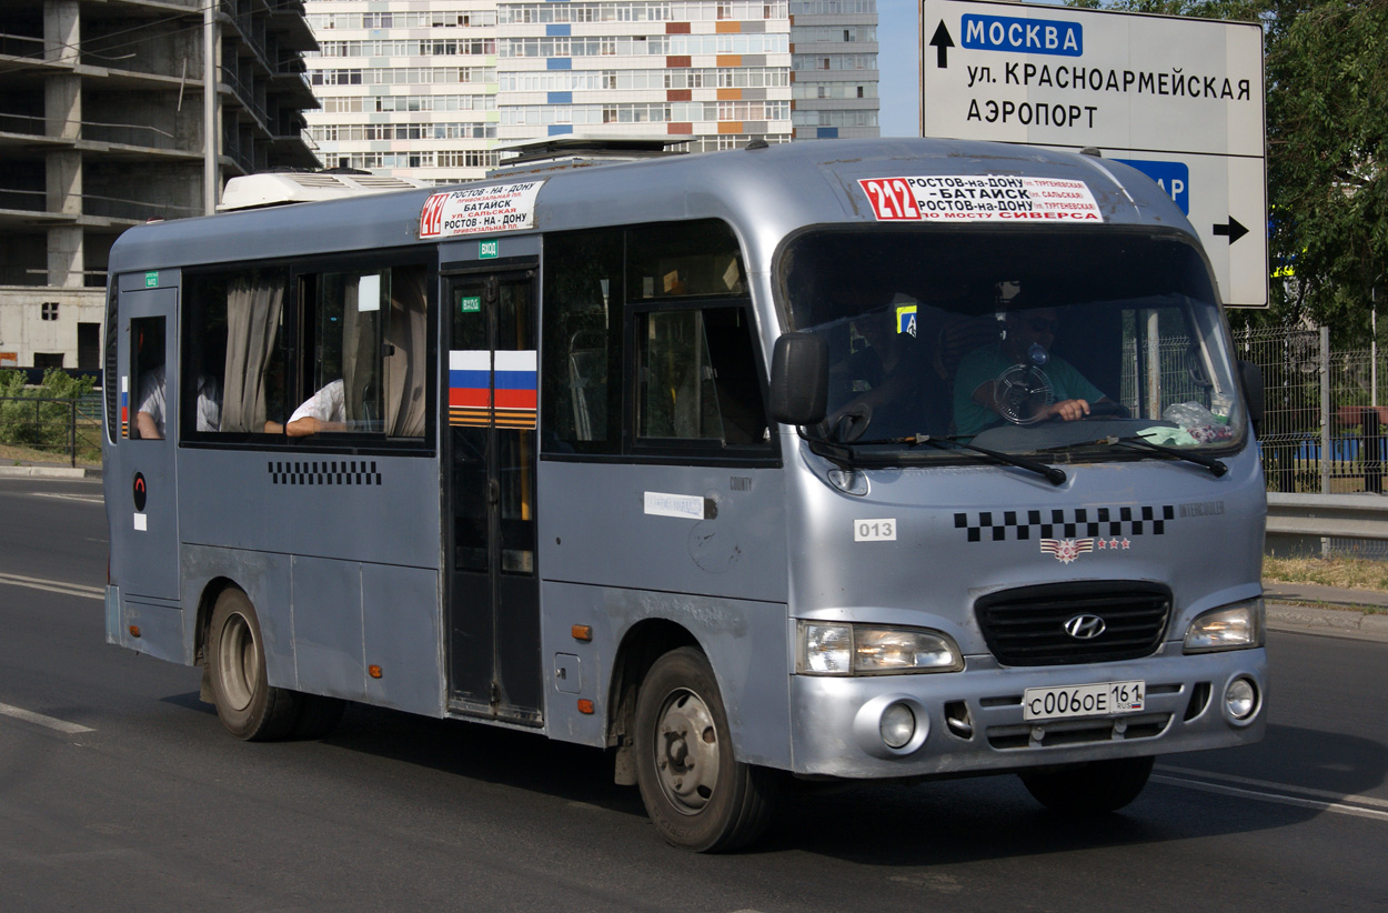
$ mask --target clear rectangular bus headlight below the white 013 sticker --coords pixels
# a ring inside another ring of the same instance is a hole
[[[795,672],[804,676],[890,676],[963,669],[945,634],[915,627],[799,623]]]

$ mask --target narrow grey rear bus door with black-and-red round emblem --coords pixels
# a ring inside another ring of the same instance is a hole
[[[168,273],[165,273],[168,276]],[[124,278],[122,278],[124,279]],[[144,276],[137,279],[143,280]],[[178,361],[175,305],[178,289],[119,291],[117,372],[121,420],[118,459],[107,472],[119,473],[124,494],[107,511],[119,516],[129,536],[111,538],[112,580],[126,597],[179,598],[178,497],[174,452],[178,432]],[[142,433],[139,412],[150,400],[151,419]]]

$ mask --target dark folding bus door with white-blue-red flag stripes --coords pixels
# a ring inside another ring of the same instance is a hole
[[[448,287],[448,702],[539,726],[534,271]]]

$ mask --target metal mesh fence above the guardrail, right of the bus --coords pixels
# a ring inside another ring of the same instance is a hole
[[[1388,395],[1373,350],[1330,348],[1330,330],[1234,334],[1263,370],[1259,433],[1269,491],[1382,494]]]

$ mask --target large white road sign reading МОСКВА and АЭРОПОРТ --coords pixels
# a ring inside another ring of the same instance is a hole
[[[1122,160],[1191,219],[1226,304],[1267,305],[1259,25],[984,0],[920,11],[923,136]]]

